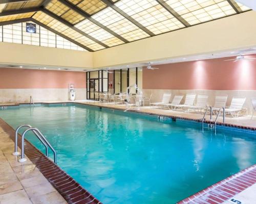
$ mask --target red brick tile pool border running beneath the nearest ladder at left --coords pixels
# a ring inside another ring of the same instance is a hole
[[[15,130],[0,118],[0,126],[14,141]],[[18,140],[21,147],[21,141]],[[54,162],[42,154],[34,145],[25,139],[25,154],[36,165],[46,179],[67,200],[76,204],[102,204],[90,192],[80,186],[70,175],[61,170]],[[14,147],[13,147],[14,148]]]

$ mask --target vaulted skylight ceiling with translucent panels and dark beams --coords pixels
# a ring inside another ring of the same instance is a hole
[[[94,52],[248,10],[234,0],[0,0],[0,25],[33,21]]]

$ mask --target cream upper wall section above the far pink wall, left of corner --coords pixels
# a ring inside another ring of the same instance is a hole
[[[0,42],[0,63],[57,67],[93,67],[92,53]]]

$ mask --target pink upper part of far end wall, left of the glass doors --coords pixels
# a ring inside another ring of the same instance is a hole
[[[0,68],[0,89],[86,88],[86,73],[39,69]]]

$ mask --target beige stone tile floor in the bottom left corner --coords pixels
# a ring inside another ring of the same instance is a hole
[[[0,204],[67,203],[28,158],[18,162],[13,150],[14,142],[0,127]]]

